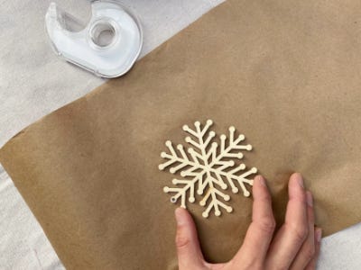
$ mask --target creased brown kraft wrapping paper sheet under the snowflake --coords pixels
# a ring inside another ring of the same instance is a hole
[[[65,266],[175,267],[159,153],[208,118],[255,146],[246,163],[270,179],[279,221],[295,170],[326,234],[359,221],[358,5],[228,1],[6,144],[0,159]],[[232,202],[221,219],[191,208],[212,261],[233,256],[249,222],[251,200]]]

